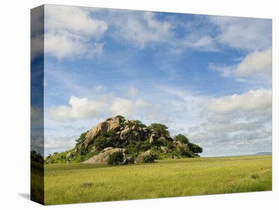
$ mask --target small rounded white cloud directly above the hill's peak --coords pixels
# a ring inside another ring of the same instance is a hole
[[[134,111],[134,104],[132,101],[124,98],[116,98],[110,108],[112,115],[122,115],[129,117]]]

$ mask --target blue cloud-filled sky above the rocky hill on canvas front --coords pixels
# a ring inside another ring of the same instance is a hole
[[[45,155],[116,115],[163,123],[204,157],[271,151],[271,24],[46,5]]]

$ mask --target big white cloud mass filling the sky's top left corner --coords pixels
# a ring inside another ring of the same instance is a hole
[[[58,59],[100,55],[98,39],[107,29],[106,22],[80,7],[45,6],[45,52]]]

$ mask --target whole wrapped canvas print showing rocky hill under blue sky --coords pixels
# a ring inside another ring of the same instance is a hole
[[[31,10],[31,200],[272,190],[271,19]]]

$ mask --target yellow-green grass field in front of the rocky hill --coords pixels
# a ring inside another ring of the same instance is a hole
[[[45,204],[268,191],[271,155],[45,165]]]

